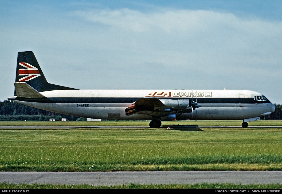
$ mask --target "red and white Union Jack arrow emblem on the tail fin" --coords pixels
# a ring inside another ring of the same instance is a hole
[[[25,67],[25,69],[19,69],[19,76],[25,76],[19,79],[19,81],[29,81],[36,77],[41,76],[38,68],[25,62],[19,62],[19,65]]]

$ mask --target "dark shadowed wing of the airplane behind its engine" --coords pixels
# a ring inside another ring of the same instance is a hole
[[[135,113],[154,115],[154,114],[150,114],[149,112],[154,112],[155,107],[162,107],[162,106],[165,106],[164,103],[162,103],[156,97],[139,98],[138,100],[136,100],[136,102],[133,103],[132,106],[125,109],[125,115],[129,116]],[[169,111],[171,111],[171,109],[169,109]]]

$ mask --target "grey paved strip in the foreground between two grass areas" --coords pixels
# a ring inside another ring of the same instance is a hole
[[[0,172],[0,182],[121,185],[282,183],[282,171],[162,171],[162,172]]]

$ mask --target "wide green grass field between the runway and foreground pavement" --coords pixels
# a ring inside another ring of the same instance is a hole
[[[0,130],[0,171],[282,170],[281,129]]]

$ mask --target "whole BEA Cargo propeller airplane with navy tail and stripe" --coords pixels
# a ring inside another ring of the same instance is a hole
[[[171,120],[250,121],[275,111],[259,92],[250,90],[79,90],[48,83],[32,51],[18,52],[14,96],[31,107],[107,120],[151,120],[160,128]]]

